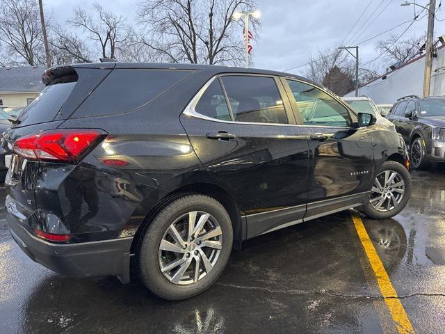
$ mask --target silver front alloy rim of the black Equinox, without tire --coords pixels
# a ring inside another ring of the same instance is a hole
[[[380,212],[395,209],[405,194],[405,181],[394,170],[384,170],[375,177],[370,203]]]

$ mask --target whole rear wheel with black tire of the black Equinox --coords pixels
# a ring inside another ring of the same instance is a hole
[[[200,222],[206,218],[201,229]],[[190,225],[193,220],[195,223]],[[218,236],[203,239],[210,233]],[[208,241],[211,246],[205,246]],[[220,202],[197,194],[176,198],[156,214],[143,232],[137,252],[140,279],[154,294],[171,301],[201,294],[223,273],[232,242],[232,222]],[[177,261],[185,262],[172,267]]]

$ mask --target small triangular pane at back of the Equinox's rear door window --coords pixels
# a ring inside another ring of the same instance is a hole
[[[195,111],[201,115],[218,120],[232,120],[227,102],[225,101],[223,88],[221,88],[218,79],[213,80],[207,87],[199,102],[197,102]]]

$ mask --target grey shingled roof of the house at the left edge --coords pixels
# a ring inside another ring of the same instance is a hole
[[[0,67],[0,93],[40,92],[44,66]]]

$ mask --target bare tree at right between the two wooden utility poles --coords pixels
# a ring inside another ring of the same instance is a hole
[[[391,35],[387,40],[380,40],[375,45],[376,51],[383,54],[389,65],[405,63],[422,54],[425,49],[425,36],[412,37],[406,40],[398,40],[398,36]]]

